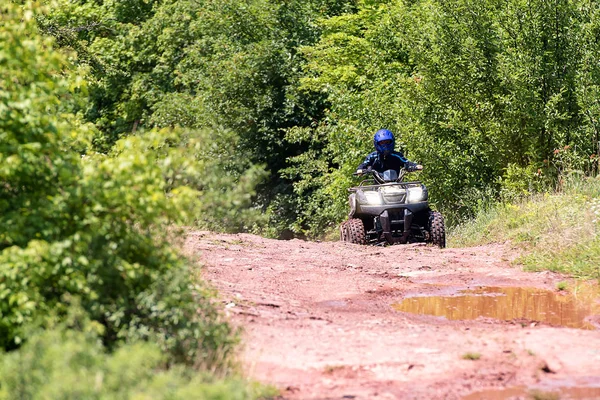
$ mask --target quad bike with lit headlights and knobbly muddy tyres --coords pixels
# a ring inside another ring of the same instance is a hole
[[[370,178],[348,189],[350,214],[340,225],[342,241],[372,245],[425,242],[446,247],[442,214],[429,208],[425,185],[404,182],[406,173],[405,169],[400,174],[369,170]]]

